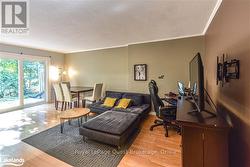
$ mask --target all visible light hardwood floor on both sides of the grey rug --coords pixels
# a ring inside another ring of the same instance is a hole
[[[27,167],[70,166],[21,140],[59,124],[59,111],[52,104],[0,114],[0,155],[23,158]],[[119,167],[180,167],[181,137],[170,131],[164,137],[163,127],[150,131],[155,116],[150,115],[121,160]],[[3,164],[0,164],[3,166]]]

